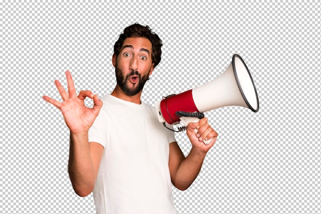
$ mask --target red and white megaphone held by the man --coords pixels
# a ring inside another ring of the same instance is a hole
[[[176,112],[207,112],[224,106],[243,106],[257,112],[258,97],[253,78],[244,60],[237,54],[223,74],[189,91],[172,95],[155,103],[159,122],[173,124],[183,121]],[[189,121],[190,122],[190,121]]]

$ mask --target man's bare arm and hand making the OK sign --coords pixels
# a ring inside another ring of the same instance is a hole
[[[104,148],[98,143],[88,142],[88,130],[103,106],[97,95],[81,91],[78,96],[69,71],[66,72],[68,93],[55,80],[62,102],[44,96],[44,100],[58,108],[70,130],[70,152],[68,171],[72,186],[79,196],[87,196],[93,190]],[[86,97],[93,99],[93,108],[85,106]]]

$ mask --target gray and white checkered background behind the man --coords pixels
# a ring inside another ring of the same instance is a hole
[[[135,22],[164,41],[146,102],[214,79],[234,53],[259,95],[258,113],[206,113],[219,138],[193,185],[173,188],[179,213],[321,213],[321,3],[295,2],[1,1],[0,213],[95,212],[72,190],[68,129],[42,96],[59,99],[66,70],[78,90],[110,93],[112,46]]]

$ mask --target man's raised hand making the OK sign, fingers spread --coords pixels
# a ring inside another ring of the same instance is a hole
[[[63,113],[65,122],[71,133],[77,134],[88,132],[89,128],[98,116],[98,113],[103,106],[103,102],[91,91],[81,91],[77,96],[74,82],[69,71],[66,71],[66,77],[68,93],[58,80],[54,81],[63,102],[59,102],[48,96],[44,96],[43,99],[56,106],[56,108]],[[94,106],[92,109],[85,105],[84,101],[86,97],[93,99]]]

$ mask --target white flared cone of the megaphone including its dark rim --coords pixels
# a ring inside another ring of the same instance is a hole
[[[251,74],[243,59],[233,55],[230,66],[216,79],[192,90],[199,112],[229,105],[243,106],[258,111],[258,97]]]

